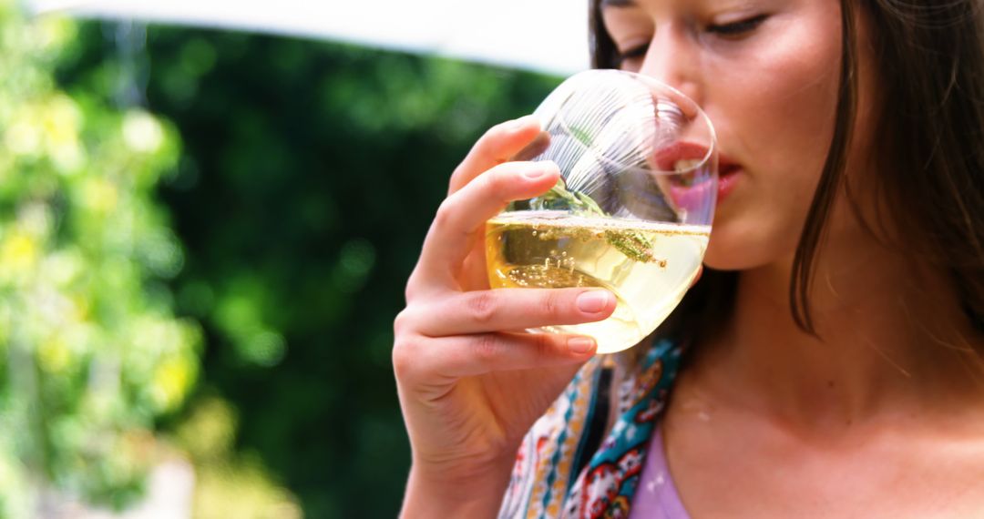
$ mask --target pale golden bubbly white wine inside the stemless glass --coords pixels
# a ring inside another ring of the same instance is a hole
[[[590,335],[598,353],[613,353],[641,341],[676,307],[697,274],[709,235],[704,225],[505,212],[486,226],[489,283],[610,290],[618,299],[611,317],[543,329]]]

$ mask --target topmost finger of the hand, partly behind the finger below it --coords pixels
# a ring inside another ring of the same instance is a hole
[[[523,150],[540,134],[540,123],[527,115],[492,127],[455,169],[448,186],[448,194],[456,193],[482,172],[491,169]]]

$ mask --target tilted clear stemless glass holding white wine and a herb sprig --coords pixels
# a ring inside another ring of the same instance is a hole
[[[489,282],[610,290],[611,317],[530,331],[624,350],[672,312],[700,268],[717,197],[713,128],[680,91],[616,70],[571,77],[534,115],[543,132],[514,158],[553,160],[561,179],[488,221]]]

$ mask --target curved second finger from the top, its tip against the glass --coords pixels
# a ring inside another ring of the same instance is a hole
[[[509,162],[490,169],[445,199],[424,239],[411,283],[452,288],[464,257],[484,232],[485,221],[508,202],[545,193],[559,177],[557,165],[550,161]]]

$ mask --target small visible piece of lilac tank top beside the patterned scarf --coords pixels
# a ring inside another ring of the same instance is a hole
[[[666,452],[663,450],[663,428],[656,426],[646,453],[646,466],[639,478],[639,488],[633,496],[630,519],[689,519],[670,477]]]

